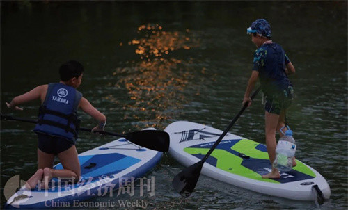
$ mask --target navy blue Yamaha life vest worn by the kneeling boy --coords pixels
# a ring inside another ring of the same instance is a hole
[[[81,92],[71,86],[50,83],[34,131],[61,136],[75,143],[80,124],[77,107],[81,97]]]

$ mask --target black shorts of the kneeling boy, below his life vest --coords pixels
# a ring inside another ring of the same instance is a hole
[[[38,148],[48,154],[59,154],[74,145],[70,140],[49,134],[38,134]]]

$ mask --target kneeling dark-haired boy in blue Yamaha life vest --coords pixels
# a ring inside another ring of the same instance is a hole
[[[15,97],[8,108],[23,110],[17,105],[40,99],[38,124],[34,129],[38,134],[38,170],[26,181],[26,188],[33,189],[39,181],[48,188],[53,177],[70,178],[79,181],[81,168],[75,147],[79,131],[77,108],[88,113],[99,122],[92,130],[104,130],[106,117],[82,97],[76,90],[81,85],[84,67],[70,60],[59,68],[61,81],[38,86],[33,90]],[[54,157],[58,156],[62,170],[53,169]]]

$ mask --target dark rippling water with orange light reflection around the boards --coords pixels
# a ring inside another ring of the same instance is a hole
[[[79,90],[108,118],[109,131],[145,127],[163,130],[188,120],[224,129],[241,107],[255,46],[246,35],[253,20],[271,23],[275,42],[296,67],[294,104],[288,120],[296,157],[320,172],[331,186],[321,209],[347,209],[347,1],[1,1],[1,112],[35,119],[40,102],[24,111],[5,105],[42,83],[58,81],[66,60],[84,64]],[[260,96],[230,130],[264,143]],[[95,122],[81,113],[82,125]],[[3,186],[15,175],[36,170],[33,125],[1,122]],[[82,133],[79,152],[113,140]],[[150,209],[317,209],[200,177],[184,199],[171,179],[183,167],[164,154],[148,176]],[[106,208],[107,209],[107,208]],[[129,209],[129,208],[128,208]],[[131,208],[132,209],[132,208]]]

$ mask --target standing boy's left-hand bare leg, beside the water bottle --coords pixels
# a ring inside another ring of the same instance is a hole
[[[265,112],[265,131],[266,131],[266,145],[267,152],[269,156],[269,161],[271,161],[272,171],[267,175],[262,175],[264,179],[279,179],[280,174],[278,169],[273,168],[274,159],[276,159],[276,128],[278,126],[279,115]]]

